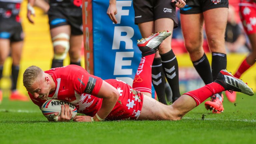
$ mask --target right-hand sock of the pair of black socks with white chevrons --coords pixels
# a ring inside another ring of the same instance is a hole
[[[165,77],[172,89],[172,102],[180,97],[178,61],[172,50],[160,54]]]

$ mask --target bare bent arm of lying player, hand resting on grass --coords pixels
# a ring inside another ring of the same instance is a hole
[[[91,122],[91,121],[102,121],[104,120],[111,110],[114,108],[120,93],[114,88],[112,85],[108,84],[107,82],[103,81],[100,91],[97,97],[102,98],[102,104],[100,110],[97,114],[93,117],[93,120],[90,116],[75,116],[74,121],[77,122]],[[98,115],[98,117],[97,117]]]

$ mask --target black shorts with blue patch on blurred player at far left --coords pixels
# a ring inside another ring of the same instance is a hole
[[[0,39],[10,39],[11,42],[23,41],[21,24],[15,20],[0,19]]]

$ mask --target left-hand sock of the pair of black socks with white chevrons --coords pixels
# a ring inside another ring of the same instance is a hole
[[[155,88],[159,102],[167,105],[164,90],[165,77],[162,68],[161,58],[154,58],[152,64],[152,83]]]

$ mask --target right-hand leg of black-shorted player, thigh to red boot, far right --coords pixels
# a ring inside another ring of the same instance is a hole
[[[214,8],[207,10],[203,13],[205,19],[205,32],[209,48],[212,52],[212,77],[213,80],[217,78],[220,70],[227,67],[227,55],[225,49],[225,30],[228,18],[228,8]],[[218,23],[218,24],[217,24]],[[213,30],[214,29],[214,30]],[[211,101],[205,103],[206,108],[215,107],[214,102],[216,98],[223,101],[223,95],[221,93],[212,97]],[[219,102],[219,103],[220,103]],[[213,112],[220,113],[224,108],[215,109]]]

